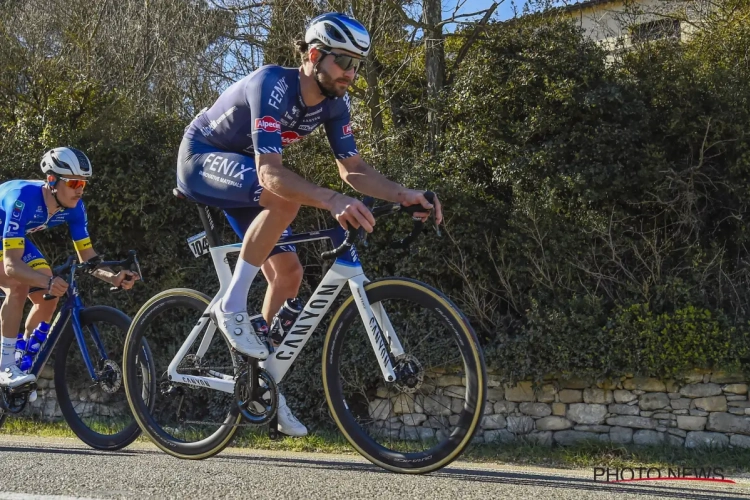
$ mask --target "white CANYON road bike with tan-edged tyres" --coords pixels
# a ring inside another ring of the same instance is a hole
[[[177,189],[174,194],[189,200]],[[375,217],[412,214],[412,232],[396,246],[407,248],[422,231],[424,223],[413,217],[420,206],[365,202]],[[464,451],[482,419],[487,374],[469,321],[442,292],[409,278],[370,281],[355,244],[361,230],[337,226],[281,238],[278,245],[330,240],[335,249],[322,257],[333,262],[281,344],[269,344],[264,361],[248,358],[217,334],[209,316],[229,286],[230,256],[241,244],[220,244],[215,209],[198,204],[198,212],[204,231],[188,243],[196,257],[211,255],[218,293],[211,298],[173,288],[156,294],[133,318],[125,346],[128,401],[159,448],[205,459],[243,426],[268,425],[278,437],[278,384],[340,298],[323,345],[322,379],[330,416],[348,442],[372,463],[400,473],[437,470]],[[136,377],[146,338],[160,348],[153,353],[159,379],[151,406]],[[446,387],[446,380],[455,385]]]

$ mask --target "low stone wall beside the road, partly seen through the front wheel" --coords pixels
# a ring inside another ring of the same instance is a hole
[[[429,437],[455,424],[465,387],[461,377],[428,374],[415,400],[379,399],[370,413],[394,438]],[[434,377],[434,378],[433,378]],[[693,372],[678,380],[622,377],[591,383],[548,380],[503,386],[490,374],[488,401],[475,442],[534,440],[570,445],[583,440],[616,444],[750,447],[750,401],[741,375]],[[457,397],[456,397],[457,396]]]

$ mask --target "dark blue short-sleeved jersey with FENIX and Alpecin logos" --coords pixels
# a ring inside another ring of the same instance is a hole
[[[336,158],[359,154],[352,135],[348,94],[307,107],[300,93],[299,70],[266,65],[225,90],[192,121],[185,137],[253,157],[281,154],[283,148],[321,124]]]

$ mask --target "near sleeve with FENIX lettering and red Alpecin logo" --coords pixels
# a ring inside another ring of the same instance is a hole
[[[281,114],[289,99],[287,75],[273,70],[258,73],[247,83],[251,135],[256,154],[281,154]]]

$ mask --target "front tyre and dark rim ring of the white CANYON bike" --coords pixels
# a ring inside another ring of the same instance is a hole
[[[445,442],[420,453],[394,451],[377,443],[355,420],[344,397],[338,366],[342,360],[339,335],[359,318],[354,297],[349,296],[339,307],[326,333],[323,345],[323,386],[331,415],[349,443],[367,460],[384,469],[407,474],[425,474],[445,467],[458,458],[470,444],[479,428],[487,395],[487,372],[476,334],[461,311],[439,290],[408,278],[384,278],[365,285],[371,304],[386,299],[406,298],[425,307],[438,308],[459,337],[458,346],[466,368],[466,407],[457,431]],[[463,348],[461,348],[463,346]],[[465,352],[463,352],[465,351]]]

